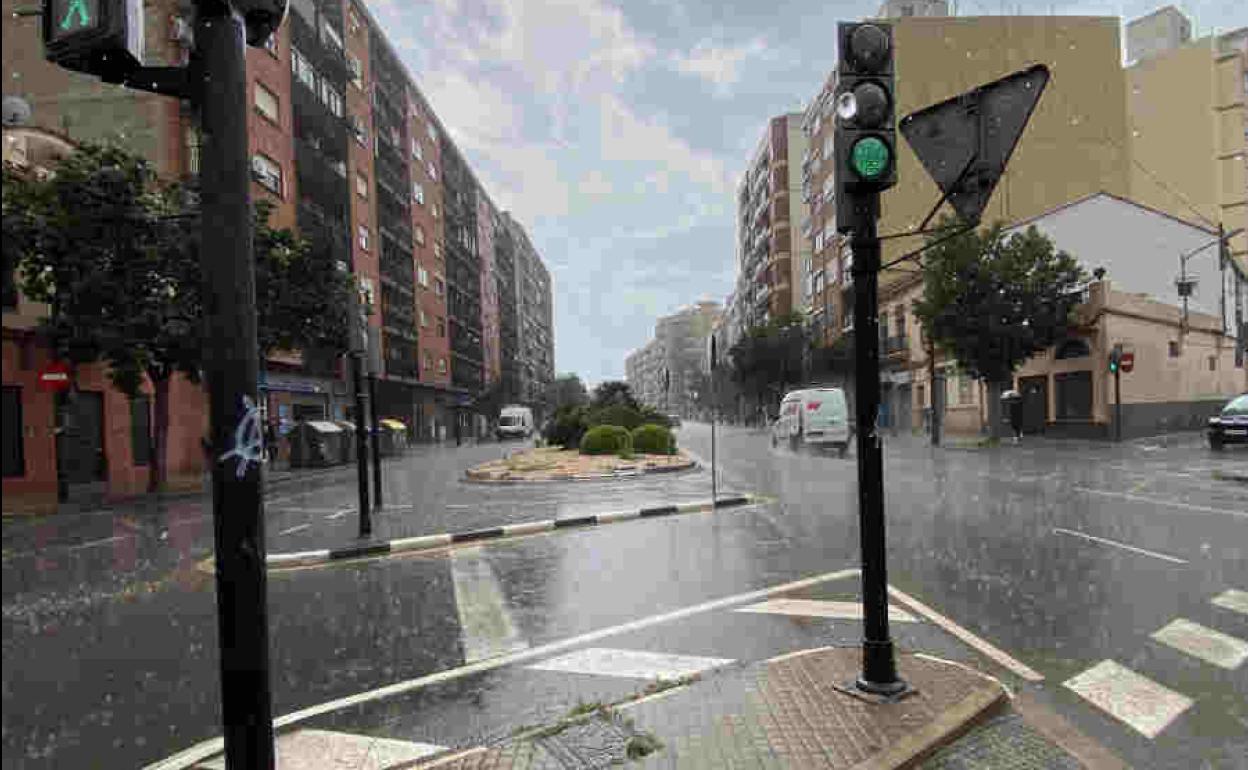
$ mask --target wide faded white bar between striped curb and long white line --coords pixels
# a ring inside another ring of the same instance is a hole
[[[480,548],[451,553],[451,577],[459,613],[464,663],[475,663],[528,649],[520,636],[494,568]]]

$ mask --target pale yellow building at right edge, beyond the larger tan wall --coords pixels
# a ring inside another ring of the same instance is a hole
[[[1131,197],[1204,226],[1248,227],[1248,27],[1142,57],[1126,69],[1126,91]],[[1248,265],[1248,235],[1229,252]]]

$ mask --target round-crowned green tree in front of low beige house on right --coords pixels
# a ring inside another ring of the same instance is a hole
[[[961,225],[946,217],[934,240]],[[1070,333],[1087,275],[1036,230],[1006,235],[1002,223],[934,246],[924,257],[915,306],[935,346],[988,386],[988,428],[1001,429],[1001,391],[1033,353]]]

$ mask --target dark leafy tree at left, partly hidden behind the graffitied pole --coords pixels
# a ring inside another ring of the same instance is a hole
[[[85,144],[47,180],[5,173],[4,238],[16,243],[21,291],[50,306],[41,331],[54,353],[77,367],[102,361],[112,384],[154,393],[149,490],[166,478],[170,383],[197,382],[206,319],[193,188],[161,183],[140,156]],[[277,347],[346,349],[348,273],[316,258],[257,205],[256,296],[261,356]]]

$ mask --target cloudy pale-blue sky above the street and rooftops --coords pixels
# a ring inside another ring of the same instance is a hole
[[[555,368],[623,378],[654,321],[734,282],[733,190],[765,121],[877,0],[366,0],[554,281]],[[1242,0],[1176,2],[1197,32]],[[960,0],[958,15],[1147,14],[1159,0]]]

